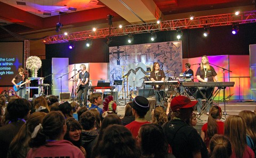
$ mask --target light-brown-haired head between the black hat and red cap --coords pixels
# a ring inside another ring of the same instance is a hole
[[[152,123],[162,126],[168,121],[166,112],[163,106],[156,106],[154,110],[151,111]]]

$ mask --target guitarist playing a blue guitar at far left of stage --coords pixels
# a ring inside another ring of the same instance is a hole
[[[18,83],[22,82],[27,82],[30,83],[30,81],[28,81],[28,76],[26,74],[24,74],[24,69],[22,67],[20,67],[18,69],[19,74],[15,75],[14,78],[12,79],[12,83],[18,88],[19,85]],[[21,98],[25,98],[25,94],[26,94],[26,84],[23,84],[20,86],[20,89],[17,92],[17,95],[19,95]]]

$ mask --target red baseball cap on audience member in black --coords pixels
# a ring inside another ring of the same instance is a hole
[[[172,111],[177,111],[181,108],[191,108],[194,107],[198,101],[191,101],[187,96],[179,95],[175,96],[171,101]]]

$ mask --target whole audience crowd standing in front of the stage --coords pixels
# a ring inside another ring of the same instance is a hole
[[[59,103],[54,96],[50,100],[13,98],[6,105],[0,96],[1,157],[255,156],[256,114],[252,111],[230,115],[223,122],[221,108],[212,106],[200,136],[193,112],[198,101],[183,95],[171,99],[171,117],[165,107],[156,106],[151,121],[145,119],[149,102],[143,96],[127,103],[123,118],[106,100],[107,107],[98,110],[95,103],[102,104],[98,93],[90,96],[93,105],[82,108],[77,102]],[[107,112],[105,117],[100,111]]]

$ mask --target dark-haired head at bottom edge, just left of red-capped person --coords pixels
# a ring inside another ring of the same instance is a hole
[[[168,156],[168,143],[161,126],[156,124],[142,125],[137,141],[140,146],[141,158],[171,157],[171,154]],[[174,156],[172,155],[172,157]]]

